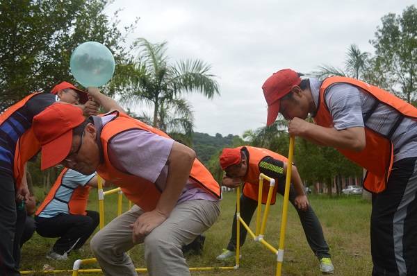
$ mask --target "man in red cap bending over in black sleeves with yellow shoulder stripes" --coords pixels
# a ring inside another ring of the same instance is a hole
[[[227,187],[237,187],[245,183],[240,196],[240,216],[249,225],[258,205],[259,174],[263,173],[276,180],[271,204],[275,204],[277,193],[284,196],[286,157],[265,148],[240,146],[238,148],[224,148],[220,155],[220,166],[224,170],[222,184]],[[320,261],[322,273],[333,273],[334,266],[329,254],[329,245],[325,241],[320,221],[309,204],[304,192],[297,168],[292,166],[291,187],[289,200],[297,210],[298,216],[314,255]],[[268,198],[269,185],[263,186],[262,204]],[[245,243],[247,231],[240,225],[240,246]],[[236,213],[232,221],[231,238],[227,249],[217,257],[218,260],[235,256],[236,251]]]

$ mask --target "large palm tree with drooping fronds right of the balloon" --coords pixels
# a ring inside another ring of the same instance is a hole
[[[145,102],[154,107],[152,126],[167,129],[193,128],[193,114],[183,94],[202,93],[213,98],[219,93],[215,76],[210,74],[211,66],[202,60],[185,60],[175,64],[168,62],[165,55],[167,42],[152,44],[139,38],[134,49],[139,54],[133,62],[133,74],[128,76],[128,89],[122,95],[122,103],[136,105]],[[175,112],[179,117],[171,121]]]

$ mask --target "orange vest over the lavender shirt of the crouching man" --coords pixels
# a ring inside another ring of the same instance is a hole
[[[104,162],[97,168],[97,173],[106,181],[116,184],[122,188],[124,195],[132,202],[142,208],[145,212],[152,211],[161,196],[155,184],[140,178],[137,175],[131,175],[117,170],[108,157],[108,143],[113,137],[126,130],[146,130],[162,137],[170,138],[165,132],[148,126],[141,121],[133,119],[124,113],[112,112],[116,117],[104,125],[101,130],[101,145],[103,146]],[[108,114],[106,114],[108,115]],[[104,116],[106,116],[104,115]],[[170,138],[171,139],[171,138]],[[190,178],[195,180],[199,187],[202,187],[215,197],[220,198],[220,186],[215,181],[211,173],[204,165],[195,159],[193,168],[190,172]]]

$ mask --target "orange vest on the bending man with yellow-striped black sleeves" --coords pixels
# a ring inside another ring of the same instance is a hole
[[[249,156],[249,162],[247,164],[247,173],[245,175],[244,181],[245,186],[243,187],[243,194],[248,198],[252,198],[253,200],[258,201],[258,193],[259,193],[259,163],[261,160],[267,156],[270,156],[274,159],[281,160],[282,162],[287,162],[288,159],[278,153],[274,153],[271,150],[267,150],[265,148],[255,148],[253,146],[240,146],[238,149],[242,150],[246,148]],[[267,175],[269,176],[269,175]],[[279,183],[275,179],[275,187],[272,192],[271,198],[271,205],[275,204],[275,199],[277,197],[277,186]],[[262,204],[266,204],[266,200],[268,199],[268,191],[269,191],[269,183],[267,181],[263,182],[262,187]]]

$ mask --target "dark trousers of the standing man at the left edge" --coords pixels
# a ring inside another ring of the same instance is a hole
[[[0,172],[0,276],[20,275],[20,237],[26,210],[16,208],[15,181]]]

